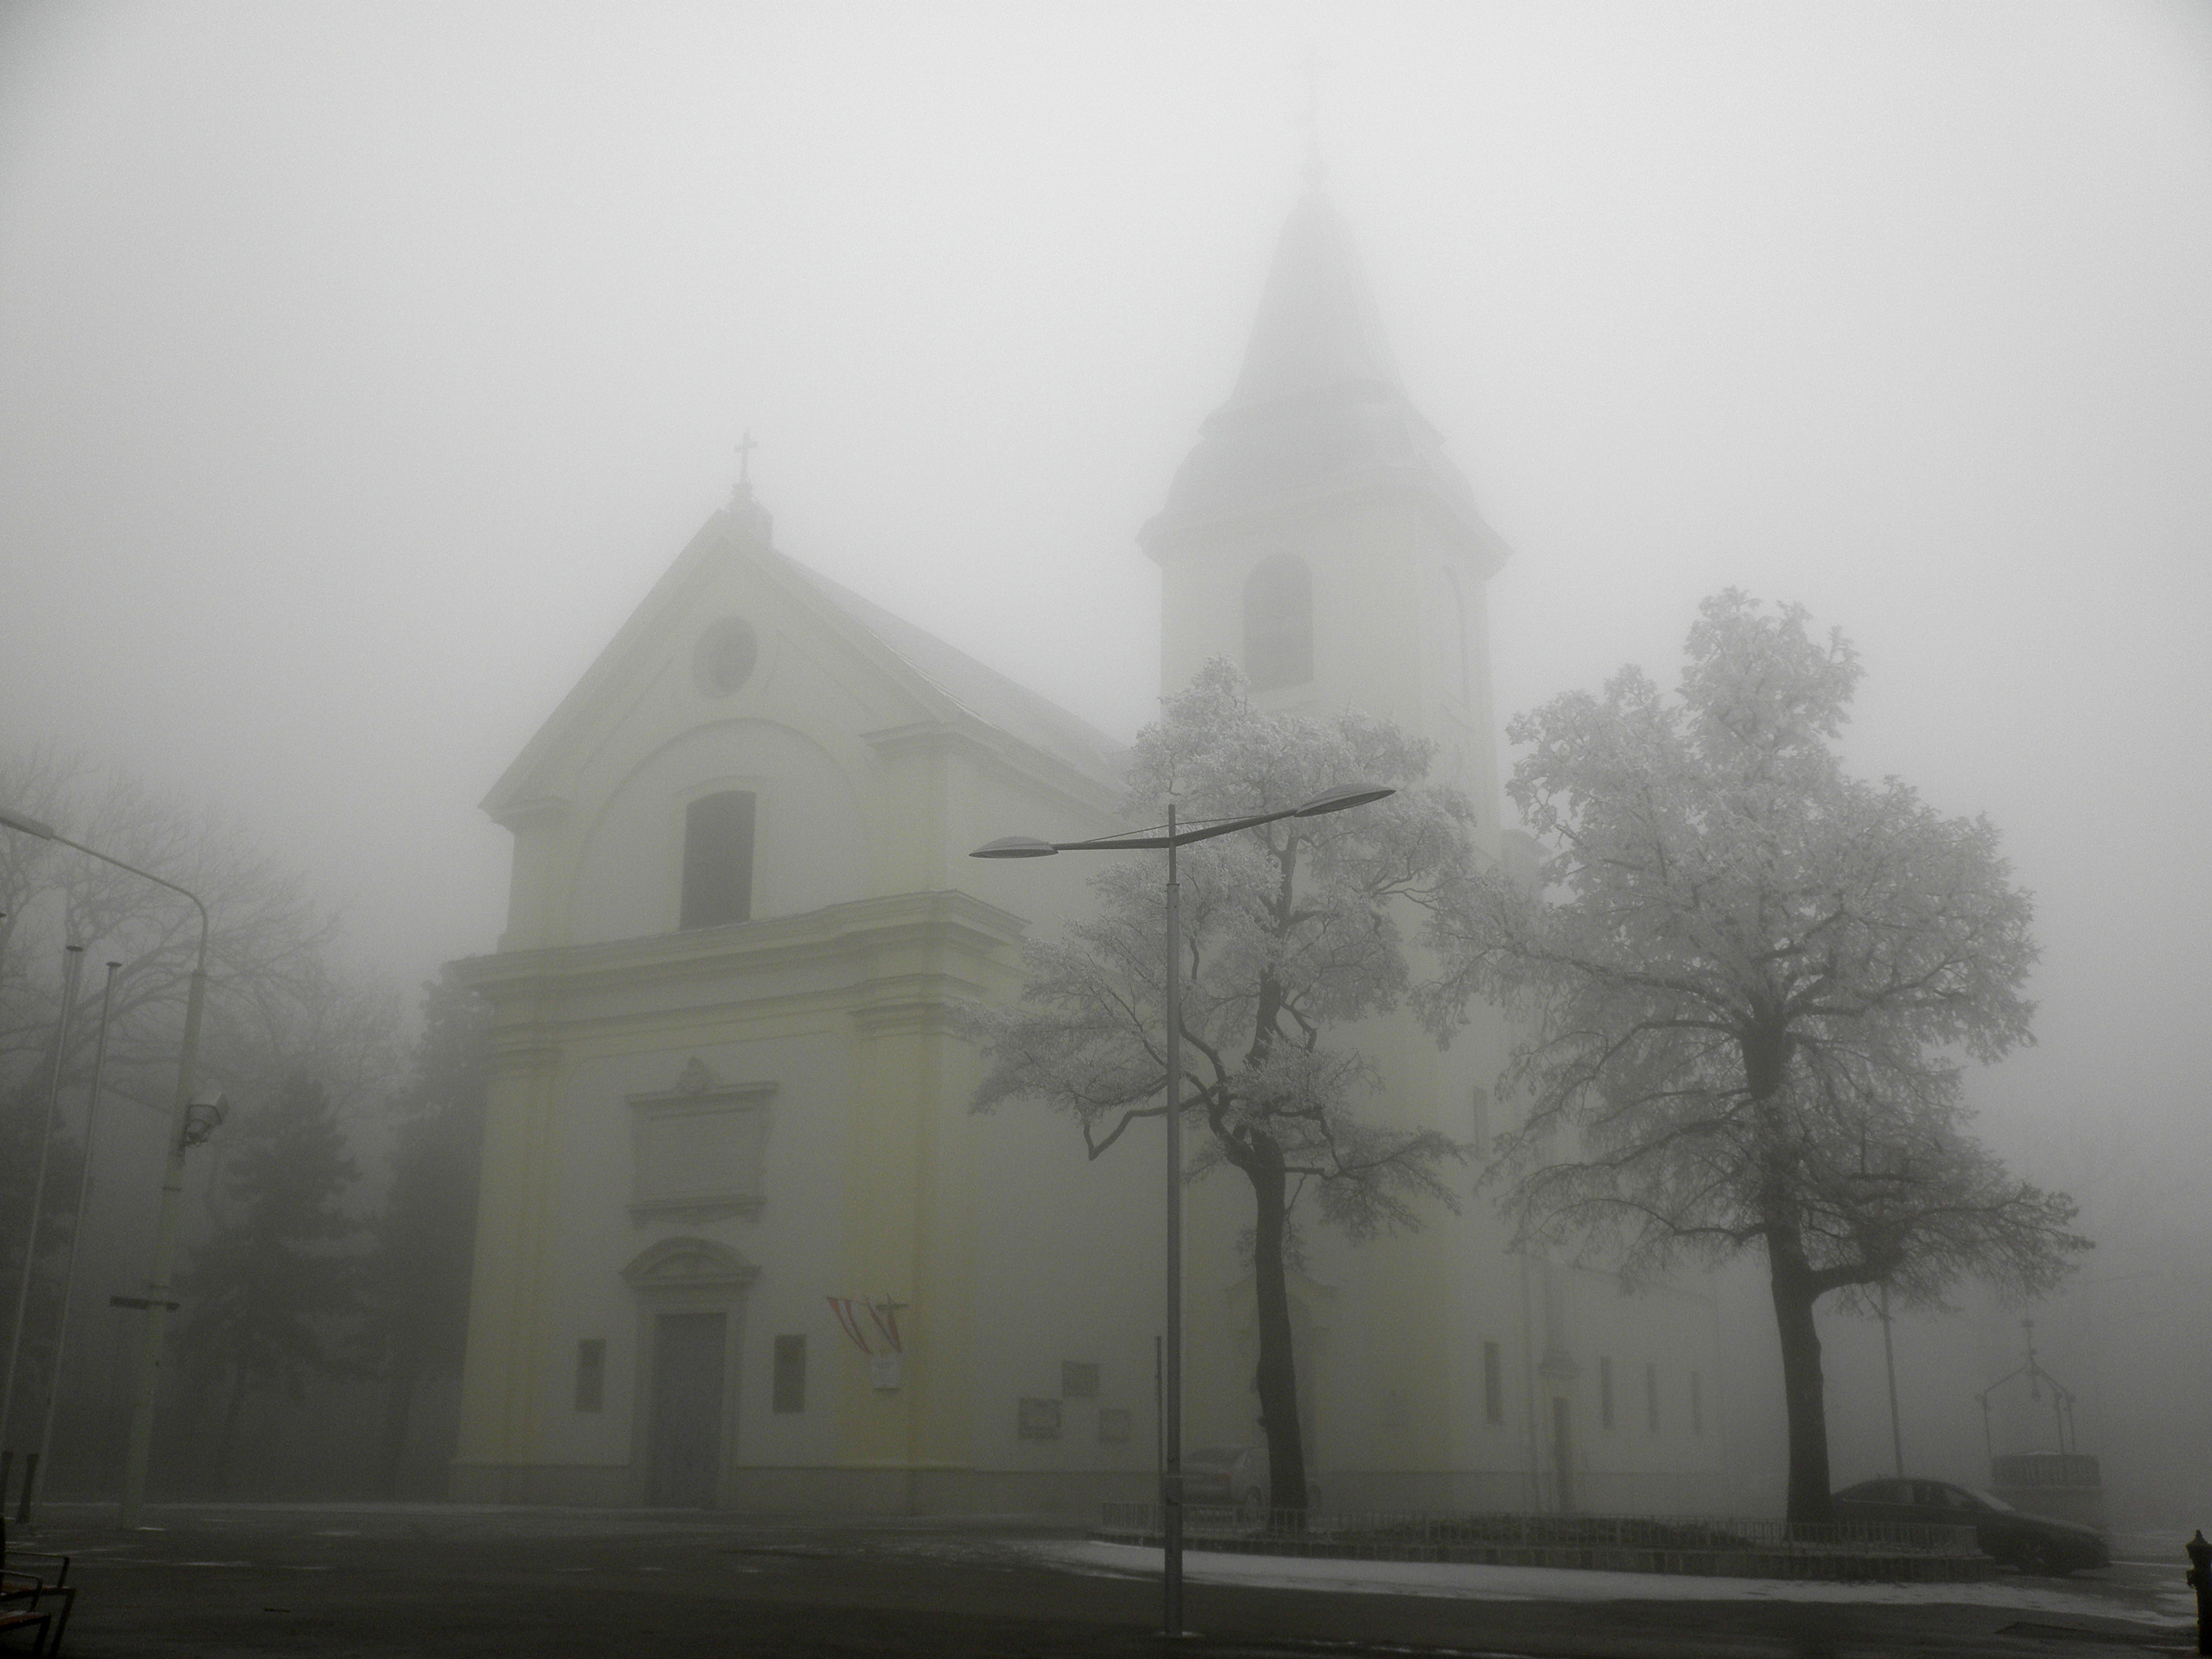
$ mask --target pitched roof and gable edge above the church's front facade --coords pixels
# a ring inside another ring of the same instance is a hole
[[[741,518],[743,515],[743,518]],[[748,522],[750,520],[750,522]],[[582,737],[586,723],[611,699],[646,641],[681,617],[695,602],[708,566],[717,557],[750,560],[785,597],[845,639],[878,672],[918,703],[925,721],[980,726],[1066,768],[1099,790],[1119,787],[1121,745],[1037,692],[945,644],[931,633],[891,615],[883,606],[779,553],[765,538],[768,515],[750,502],[721,509],[699,526],[630,619],[622,624],[575,688],[562,697],[538,734],[491,785],[482,810],[507,821],[526,812],[544,790],[540,779],[555,757]]]

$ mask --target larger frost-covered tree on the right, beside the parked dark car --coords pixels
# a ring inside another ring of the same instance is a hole
[[[1498,1172],[1526,1237],[1630,1270],[1765,1256],[1796,1522],[1829,1515],[1823,1296],[2039,1292],[2086,1248],[2073,1201],[2011,1179],[1960,1097],[1960,1060],[2033,1040],[2028,896],[1986,818],[1845,774],[1858,675],[1805,611],[1730,591],[1677,695],[1624,668],[1517,717],[1509,792],[1546,891],[1489,874],[1440,911],[1453,971],[1429,1004],[1520,1015],[1502,1086],[1526,1117]]]

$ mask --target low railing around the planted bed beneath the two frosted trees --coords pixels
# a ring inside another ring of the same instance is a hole
[[[1159,1504],[1106,1504],[1106,1535],[1159,1537]],[[1666,1551],[1761,1555],[1980,1557],[1973,1526],[1783,1522],[1741,1515],[1509,1515],[1467,1511],[1290,1511],[1183,1506],[1183,1535],[1303,1540],[1329,1553],[1383,1551]]]

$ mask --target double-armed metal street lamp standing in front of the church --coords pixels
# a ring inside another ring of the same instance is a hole
[[[1263,823],[1283,818],[1318,818],[1327,812],[1363,807],[1396,790],[1343,787],[1325,790],[1305,805],[1281,812],[1254,812],[1243,818],[1206,818],[1190,830],[1175,823],[1175,803],[1168,803],[1166,827],[1130,830],[1121,836],[1097,836],[1093,841],[1035,841],[1033,836],[1002,836],[978,847],[969,858],[1051,858],[1055,852],[1144,852],[1168,849],[1168,1378],[1161,1409],[1161,1628],[1168,1637],[1183,1635],[1183,989],[1181,989],[1181,887],[1175,878],[1175,849],[1192,841],[1212,841],[1239,830],[1256,830]]]

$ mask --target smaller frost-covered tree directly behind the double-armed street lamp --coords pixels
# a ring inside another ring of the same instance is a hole
[[[1190,1175],[1225,1166],[1252,1192],[1254,1380],[1274,1502],[1292,1511],[1307,1489],[1285,1283],[1301,1201],[1354,1239],[1418,1225],[1420,1201],[1453,1203],[1438,1170],[1460,1148],[1365,1115],[1380,1079],[1345,1044],[1354,1022],[1398,1009],[1413,989],[1405,907],[1444,902],[1473,872],[1473,812],[1422,781],[1429,759],[1427,741],[1349,710],[1267,714],[1232,666],[1212,661],[1139,734],[1130,761],[1124,805],[1139,823],[1166,816],[1168,801],[1197,823],[1347,783],[1398,790],[1181,854],[1181,1099],[1201,1130]],[[1042,1099],[1075,1117],[1099,1157],[1130,1124],[1166,1113],[1159,854],[1113,863],[1093,889],[1091,918],[1024,947],[1022,1000],[975,1015],[989,1051],[975,1104]]]

